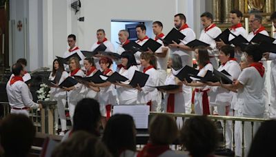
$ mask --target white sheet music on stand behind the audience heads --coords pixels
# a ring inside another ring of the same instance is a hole
[[[113,114],[129,114],[135,121],[137,129],[148,129],[148,115],[150,114],[148,105],[115,105]]]

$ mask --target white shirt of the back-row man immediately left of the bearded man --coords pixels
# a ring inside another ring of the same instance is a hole
[[[162,37],[162,39],[164,39],[164,38],[165,38],[165,36]],[[168,47],[164,46],[163,41],[161,41],[160,39],[157,39],[157,42],[161,43],[162,45],[161,45],[161,47],[159,49],[156,50],[155,53],[162,53],[163,52],[162,48],[168,48]],[[167,66],[168,65],[168,54],[170,53],[169,50],[170,49],[168,48],[168,52],[167,52],[167,54],[166,54],[165,57],[158,57],[158,56],[156,56],[156,59],[157,59],[157,70],[167,70],[167,67],[168,67]]]

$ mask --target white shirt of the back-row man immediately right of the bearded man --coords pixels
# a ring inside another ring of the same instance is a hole
[[[212,25],[210,25],[208,28],[212,27]],[[221,34],[221,30],[217,26],[215,26],[214,28],[210,28],[210,30],[207,30],[206,32],[205,30],[201,30],[199,41],[210,44],[210,48],[212,50],[208,50],[209,56],[215,56],[215,54],[218,53],[218,50],[216,49],[216,42],[214,39],[219,36],[219,34]],[[210,57],[210,62],[213,64],[214,68],[217,69],[219,65],[217,57]]]

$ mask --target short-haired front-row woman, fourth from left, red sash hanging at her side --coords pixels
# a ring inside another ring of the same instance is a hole
[[[102,57],[99,60],[99,65],[103,70],[103,75],[111,76],[113,74],[110,70],[110,65],[112,65],[112,60],[107,57]],[[106,121],[110,117],[111,105],[116,105],[116,96],[113,92],[114,85],[110,82],[105,83],[90,83],[93,87],[99,87],[99,105],[101,111],[101,125],[103,128],[106,126]]]

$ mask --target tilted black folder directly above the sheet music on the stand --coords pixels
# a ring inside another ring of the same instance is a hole
[[[139,84],[140,87],[144,87],[146,85],[146,81],[148,81],[148,77],[148,74],[136,70],[129,85],[137,87],[137,84]]]

